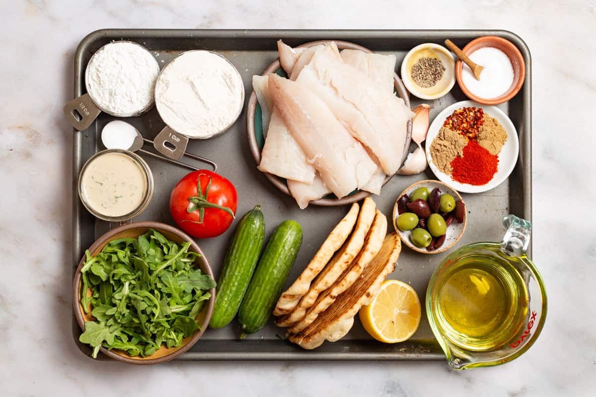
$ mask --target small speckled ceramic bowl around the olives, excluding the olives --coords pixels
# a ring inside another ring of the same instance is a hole
[[[429,189],[429,192],[430,190],[433,190],[435,187],[438,187],[441,190],[441,194],[449,193],[450,195],[454,196],[456,201],[461,200],[461,202],[463,202],[465,205],[465,201],[461,198],[461,195],[457,192],[457,190],[455,190],[453,187],[449,185],[446,185],[443,182],[431,179],[421,180],[420,182],[412,183],[412,185],[406,187],[406,189],[403,190],[403,192],[399,193],[398,199],[406,193],[408,194],[408,196],[411,195],[414,192],[414,190],[418,189],[418,187],[423,186],[427,187],[427,189]],[[457,221],[454,220],[447,227],[447,233],[445,235],[445,242],[443,242],[443,245],[440,246],[438,249],[435,249],[434,251],[428,251],[426,248],[419,248],[415,246],[414,243],[412,243],[412,240],[410,239],[411,232],[402,232],[398,229],[398,226],[396,224],[398,216],[398,200],[396,199],[395,205],[393,205],[392,215],[393,227],[395,228],[395,232],[398,233],[399,238],[405,245],[407,245],[409,248],[413,249],[416,252],[420,252],[421,254],[439,254],[439,252],[445,252],[449,248],[452,248],[452,246],[457,244],[457,242],[461,239],[461,236],[464,235],[465,226],[467,226],[468,224],[468,213],[466,211],[463,223],[457,223]]]

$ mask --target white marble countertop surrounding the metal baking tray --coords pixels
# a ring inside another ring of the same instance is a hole
[[[68,4],[67,4],[68,3]],[[0,395],[588,396],[596,394],[596,2],[479,0],[120,1],[0,4]],[[547,283],[547,324],[501,367],[446,362],[173,362],[89,360],[72,341],[73,54],[106,27],[507,29],[533,63],[533,252]],[[582,108],[586,106],[586,108]],[[581,139],[581,145],[577,145]],[[105,394],[107,393],[107,394]]]

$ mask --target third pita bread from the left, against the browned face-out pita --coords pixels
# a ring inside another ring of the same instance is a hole
[[[377,256],[378,251],[380,251],[385,235],[387,235],[387,218],[381,211],[377,210],[373,226],[371,226],[364,240],[364,246],[356,258],[354,258],[352,264],[349,265],[333,286],[319,295],[315,304],[306,311],[306,315],[302,320],[288,329],[289,333],[299,333],[308,327],[320,313],[336,301],[340,293],[344,292],[360,277],[364,268]]]

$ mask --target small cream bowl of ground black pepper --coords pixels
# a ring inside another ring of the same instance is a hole
[[[455,59],[441,45],[417,45],[403,58],[401,76],[403,85],[412,95],[437,99],[455,85]]]

